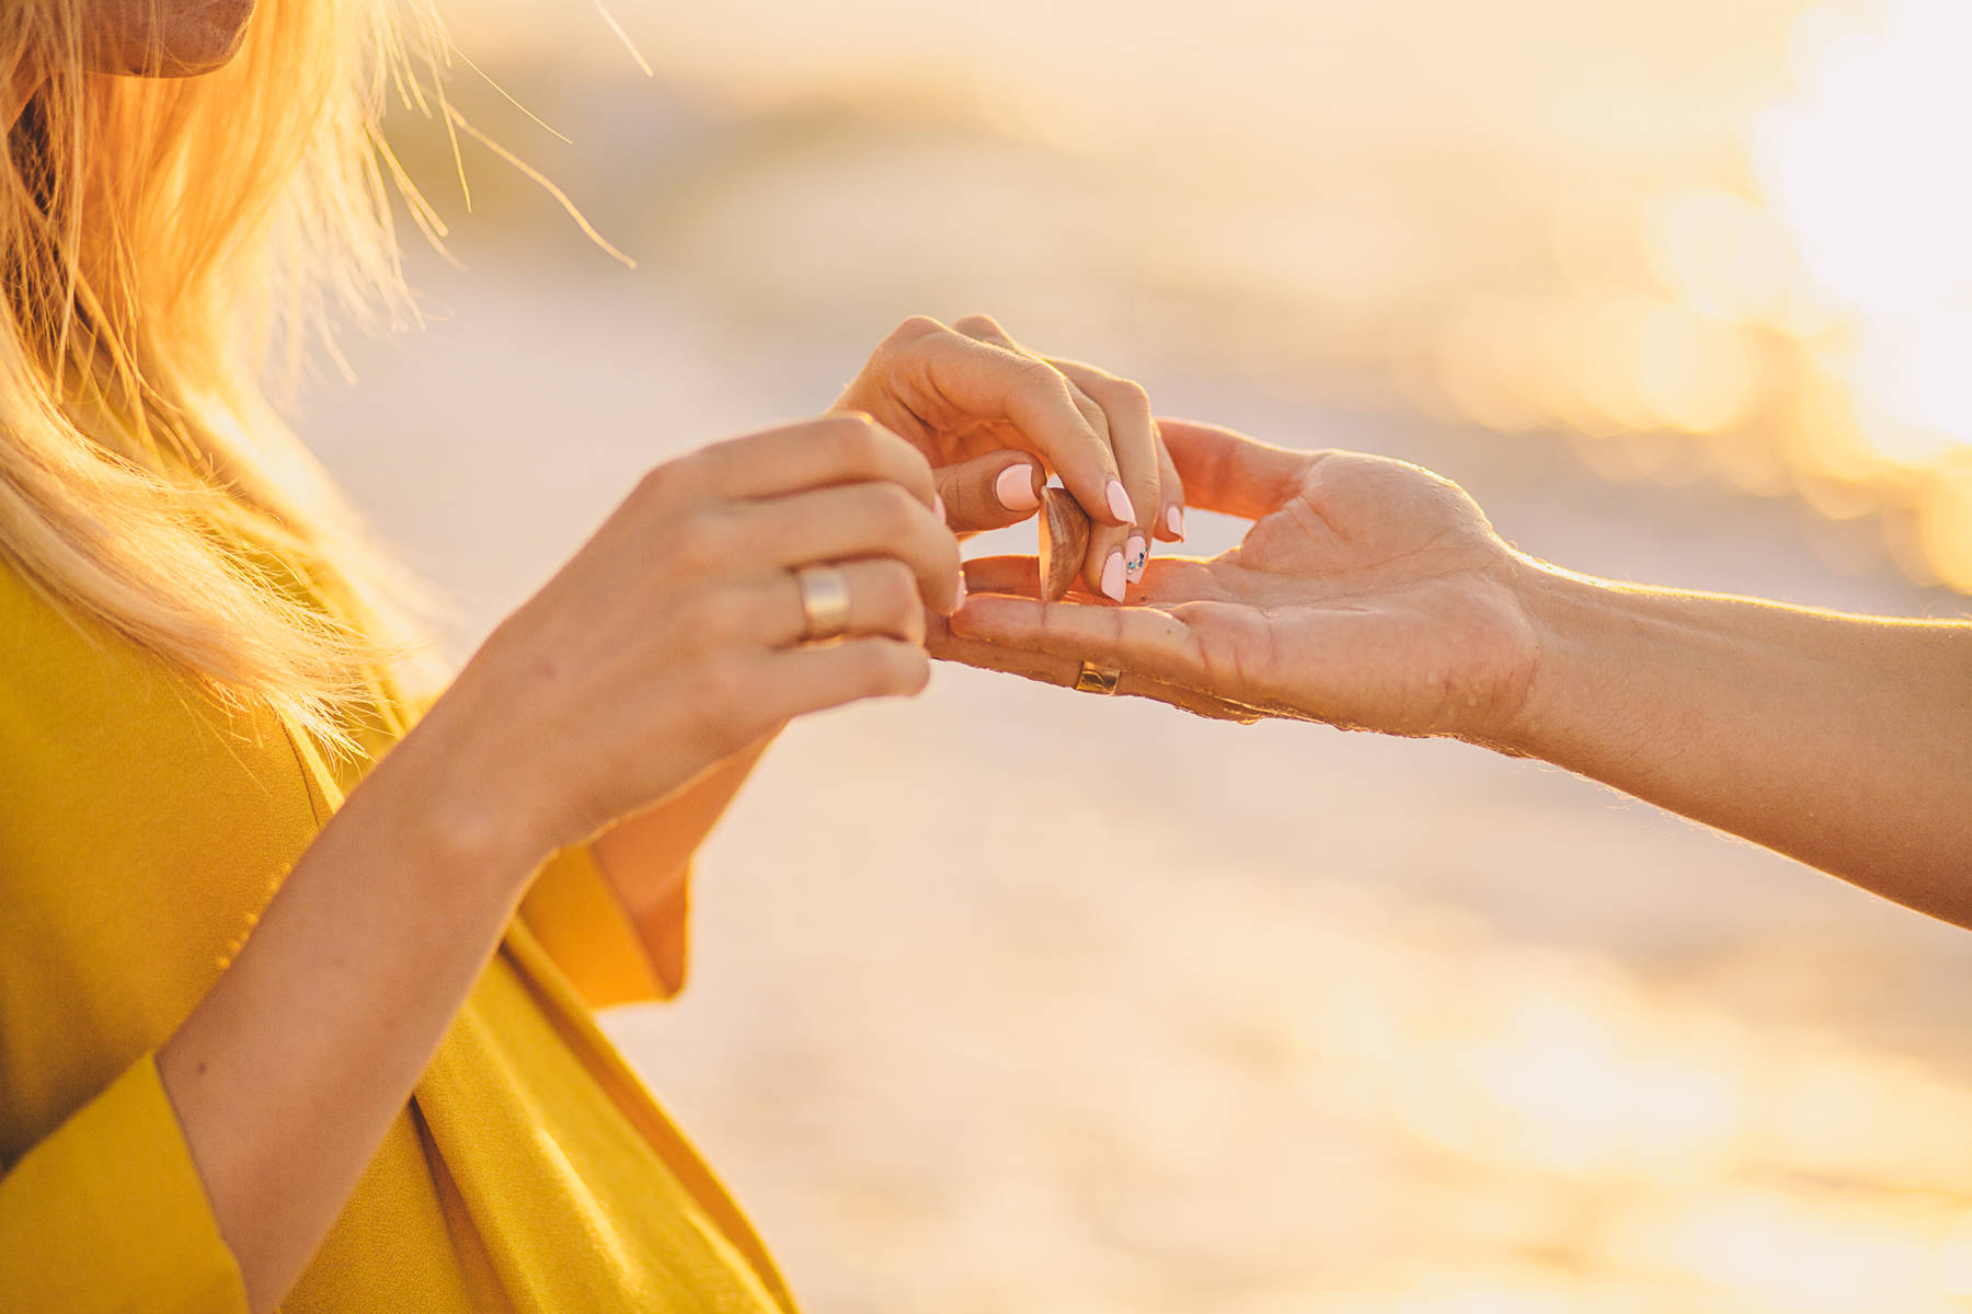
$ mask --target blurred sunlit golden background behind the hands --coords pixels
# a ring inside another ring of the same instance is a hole
[[[1962,0],[448,20],[461,112],[635,262],[392,112],[452,262],[300,414],[454,656],[645,467],[968,311],[1576,569],[1964,613]],[[785,737],[690,991],[609,1024],[814,1314],[1929,1314],[1968,973],[1538,764],[939,670]]]

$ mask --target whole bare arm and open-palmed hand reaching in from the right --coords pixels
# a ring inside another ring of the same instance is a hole
[[[1972,928],[1972,624],[1591,579],[1414,465],[1160,429],[1193,504],[1252,520],[1238,548],[1152,563],[1128,607],[972,561],[933,652],[1538,756]]]

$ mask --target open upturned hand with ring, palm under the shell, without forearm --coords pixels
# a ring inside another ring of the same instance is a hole
[[[1503,735],[1536,658],[1528,565],[1465,493],[1384,457],[1160,427],[1193,504],[1252,520],[1246,540],[1154,561],[1130,607],[1045,605],[1031,558],[972,561],[937,656],[1053,684],[1120,668],[1120,693],[1229,719]]]

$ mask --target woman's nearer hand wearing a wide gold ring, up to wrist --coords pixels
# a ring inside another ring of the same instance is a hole
[[[860,414],[653,469],[412,731],[458,764],[458,837],[532,871],[783,721],[923,690],[925,607],[962,587],[935,502],[925,457]],[[822,563],[848,632],[807,644],[795,571]]]

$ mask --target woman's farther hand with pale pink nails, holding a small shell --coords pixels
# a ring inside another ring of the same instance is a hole
[[[1152,540],[1179,542],[1185,491],[1144,390],[1079,361],[1018,345],[986,315],[945,327],[905,319],[870,355],[834,410],[856,410],[937,467],[949,524],[1018,524],[1039,506],[1047,473],[1089,512],[1083,579],[1124,599]]]

